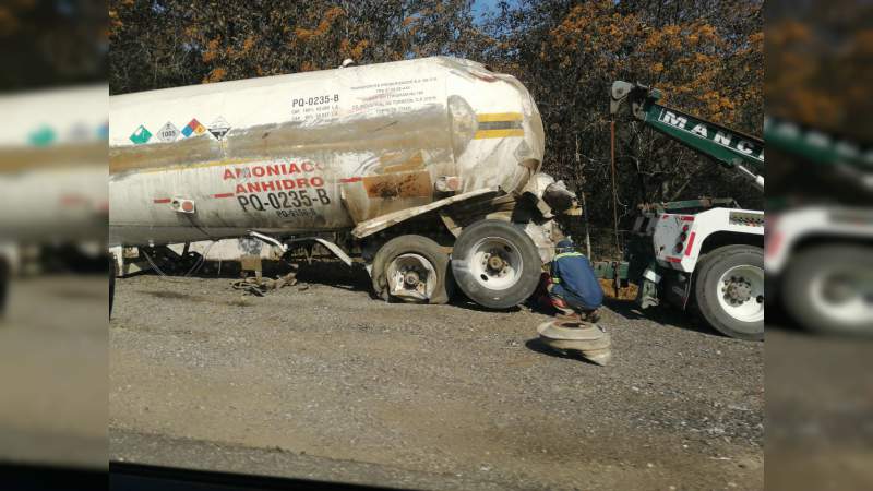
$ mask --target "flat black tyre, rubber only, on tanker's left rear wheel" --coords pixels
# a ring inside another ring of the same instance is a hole
[[[428,303],[446,303],[452,297],[454,280],[449,265],[449,254],[432,239],[422,236],[399,236],[382,246],[373,258],[371,277],[373,291],[383,299],[390,300],[388,285],[385,277],[388,265],[402,254],[418,254],[427,259],[436,271],[436,285]]]

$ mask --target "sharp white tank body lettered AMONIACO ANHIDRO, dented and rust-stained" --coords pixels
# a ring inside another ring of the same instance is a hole
[[[543,130],[514,77],[427,58],[110,97],[110,242],[296,235],[521,191]]]

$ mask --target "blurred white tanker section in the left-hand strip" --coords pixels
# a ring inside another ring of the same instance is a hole
[[[108,92],[0,95],[0,310],[10,277],[32,255],[50,260],[43,266],[106,267]]]

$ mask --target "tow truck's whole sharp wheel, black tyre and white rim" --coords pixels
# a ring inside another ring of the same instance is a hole
[[[764,251],[725,246],[698,264],[694,300],[701,316],[730,337],[764,339]]]

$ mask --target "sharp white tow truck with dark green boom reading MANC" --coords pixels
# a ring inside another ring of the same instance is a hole
[[[613,119],[627,107],[644,125],[764,191],[763,140],[659,104],[662,93],[639,83],[617,81],[610,96]],[[623,263],[639,286],[636,302],[646,309],[666,300],[728,336],[763,339],[764,225],[763,211],[732,199],[641,205]]]

